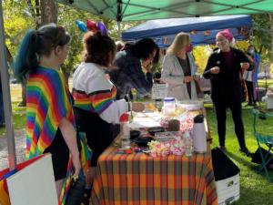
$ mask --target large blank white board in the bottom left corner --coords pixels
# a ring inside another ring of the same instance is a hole
[[[12,205],[58,205],[51,155],[6,179]]]

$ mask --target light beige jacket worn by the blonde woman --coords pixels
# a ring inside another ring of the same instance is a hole
[[[197,66],[194,62],[192,54],[187,53],[189,59],[189,66],[191,76],[194,76],[197,72]],[[167,97],[176,97],[177,100],[189,99],[187,93],[187,85],[183,83],[184,72],[179,64],[177,56],[166,55],[163,59],[161,79],[167,83]],[[197,89],[194,81],[191,84],[191,99],[197,99]]]

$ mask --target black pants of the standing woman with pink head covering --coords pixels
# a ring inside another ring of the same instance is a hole
[[[213,100],[217,114],[217,131],[220,146],[225,146],[227,108],[230,108],[235,126],[235,133],[240,148],[246,147],[245,130],[242,120],[241,97],[226,97],[226,99]]]

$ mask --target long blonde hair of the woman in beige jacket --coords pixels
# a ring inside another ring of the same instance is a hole
[[[189,45],[190,45],[189,35],[187,33],[180,32],[175,37],[171,46],[167,48],[167,54],[177,56],[177,53],[181,50],[181,48],[189,46]]]

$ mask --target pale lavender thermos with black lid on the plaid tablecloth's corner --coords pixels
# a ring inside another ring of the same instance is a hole
[[[193,125],[193,145],[197,153],[207,152],[207,138],[204,125],[204,115],[197,115]]]

